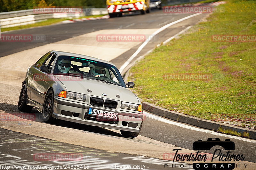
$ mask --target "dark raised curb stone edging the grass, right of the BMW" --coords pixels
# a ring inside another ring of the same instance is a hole
[[[163,117],[172,119],[177,122],[194,125],[194,126],[204,128],[204,129],[210,129],[210,130],[217,131],[219,127],[222,127],[222,129],[224,129],[224,130],[231,129],[231,130],[234,130],[236,132],[241,132],[241,133],[249,132],[249,138],[256,139],[256,130],[254,130],[254,129],[242,128],[242,127],[230,125],[227,123],[214,122],[214,121],[210,121],[210,120],[205,120],[205,119],[185,115],[185,114],[182,114],[179,112],[167,110],[165,108],[156,106],[154,104],[150,104],[148,102],[142,102],[142,108],[143,108],[143,110],[146,110],[150,113],[153,113],[153,114],[156,114],[159,116],[163,116]]]

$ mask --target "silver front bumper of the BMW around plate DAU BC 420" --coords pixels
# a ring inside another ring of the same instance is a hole
[[[96,116],[88,115],[89,108],[105,110],[109,112],[118,113],[117,120],[107,120],[96,118]],[[140,124],[143,119],[142,114],[134,114],[132,112],[120,112],[118,110],[111,110],[101,107],[93,107],[87,104],[77,103],[68,100],[62,100],[54,97],[54,107],[52,117],[60,120],[82,123],[91,126],[98,126],[103,128],[125,130],[130,132],[140,132]],[[94,118],[94,119],[93,119]]]

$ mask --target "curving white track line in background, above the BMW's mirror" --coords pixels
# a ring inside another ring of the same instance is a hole
[[[189,15],[188,17],[181,18],[181,19],[179,19],[179,20],[177,20],[177,21],[174,21],[174,22],[169,23],[169,24],[167,24],[167,25],[165,25],[165,26],[162,26],[161,28],[159,28],[158,30],[156,30],[154,33],[152,33],[152,34],[147,38],[147,40],[145,40],[145,41],[140,45],[140,47],[133,53],[133,55],[120,67],[119,71],[122,73],[122,72],[124,71],[125,67],[127,67],[127,66],[130,64],[130,62],[132,61],[132,59],[135,58],[135,57],[140,53],[140,51],[148,44],[148,42],[149,42],[156,34],[160,33],[161,31],[164,31],[166,28],[168,28],[168,27],[170,27],[170,26],[172,26],[172,25],[174,25],[174,24],[177,24],[177,23],[179,23],[179,22],[181,22],[181,21],[184,21],[184,20],[186,20],[186,19],[188,19],[188,18],[195,17],[195,16],[200,15],[200,14],[202,14],[202,13],[196,13],[196,14],[193,14],[193,15]]]

